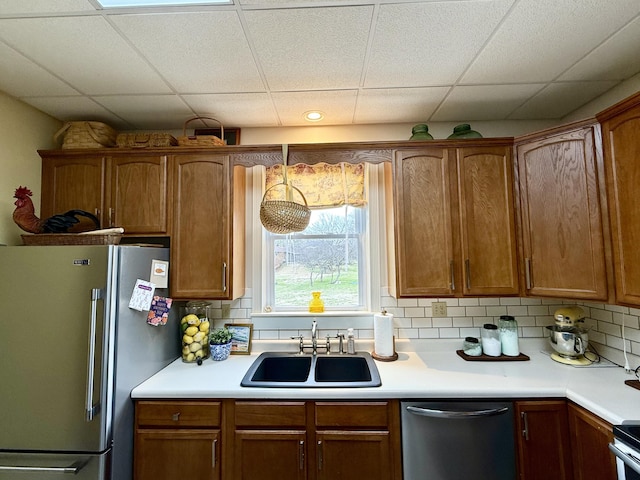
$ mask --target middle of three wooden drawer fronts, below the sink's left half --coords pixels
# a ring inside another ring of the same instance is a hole
[[[304,427],[305,402],[236,402],[237,427]]]

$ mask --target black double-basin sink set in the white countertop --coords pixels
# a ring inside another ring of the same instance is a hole
[[[243,387],[317,388],[379,387],[380,374],[371,355],[265,352],[256,358]]]

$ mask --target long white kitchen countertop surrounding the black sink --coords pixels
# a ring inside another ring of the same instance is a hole
[[[295,351],[292,342],[254,342],[251,355],[231,355],[222,362],[207,359],[198,366],[178,359],[137,386],[131,396],[261,400],[566,397],[614,425],[640,421],[640,390],[625,385],[625,380],[635,377],[622,368],[560,364],[549,357],[546,341],[542,339],[520,340],[520,350],[530,357],[529,361],[466,361],[455,352],[461,348],[461,342],[434,340],[426,348],[421,343],[422,351],[399,351],[394,362],[376,361],[382,379],[380,387],[241,387],[242,377],[260,352]],[[371,350],[366,343],[356,346],[358,350]]]

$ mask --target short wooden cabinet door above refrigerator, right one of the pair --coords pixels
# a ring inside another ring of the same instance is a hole
[[[113,157],[110,171],[109,225],[126,233],[166,233],[166,155]]]

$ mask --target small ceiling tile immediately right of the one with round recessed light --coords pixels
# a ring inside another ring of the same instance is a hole
[[[448,91],[448,87],[362,90],[355,123],[425,122]]]

